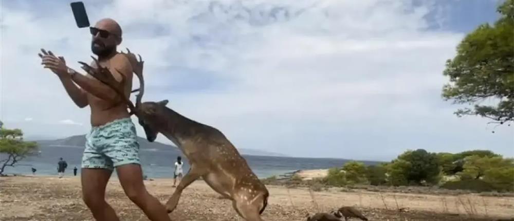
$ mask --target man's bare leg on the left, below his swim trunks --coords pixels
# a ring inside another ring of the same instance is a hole
[[[97,221],[119,221],[114,209],[105,201],[105,187],[111,177],[108,169],[82,168],[82,198]]]

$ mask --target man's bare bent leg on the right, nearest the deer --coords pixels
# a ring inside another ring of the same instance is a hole
[[[125,194],[152,221],[171,221],[166,208],[152,196],[143,183],[143,173],[139,164],[124,164],[116,168]]]

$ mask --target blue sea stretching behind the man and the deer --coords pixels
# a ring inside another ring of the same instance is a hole
[[[83,148],[74,146],[40,146],[38,156],[31,156],[15,164],[15,167],[6,167],[7,174],[32,174],[31,168],[35,168],[36,175],[57,175],[57,162],[62,157],[68,163],[65,176],[73,176],[73,168],[77,167],[80,174],[80,162]],[[329,158],[296,158],[296,157],[273,157],[273,156],[251,156],[243,155],[252,171],[259,178],[266,178],[273,175],[283,175],[297,170],[326,169],[341,167],[346,159]],[[0,159],[5,159],[2,154]],[[177,151],[151,151],[141,149],[140,158],[144,175],[148,178],[171,178],[173,177],[173,165],[177,158]],[[185,162],[183,167],[186,173],[189,170],[187,159],[182,156]],[[365,161],[366,164],[375,164],[374,161]],[[115,173],[114,173],[115,174]],[[113,175],[114,175],[113,174]]]

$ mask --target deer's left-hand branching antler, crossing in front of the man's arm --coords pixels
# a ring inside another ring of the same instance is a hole
[[[121,81],[118,82],[113,77],[111,71],[109,71],[108,68],[100,66],[98,60],[95,59],[94,57],[91,57],[91,58],[93,58],[93,60],[96,62],[97,67],[93,68],[93,67],[89,66],[88,64],[79,61],[79,63],[82,64],[82,69],[84,69],[87,73],[89,73],[89,75],[93,76],[100,82],[106,84],[107,86],[111,87],[114,91],[116,91],[116,93],[122,98],[121,102],[125,102],[128,105],[128,108],[131,109],[131,113],[135,114],[137,108],[130,101],[130,99],[125,97],[125,93],[123,93],[123,90],[124,90],[123,87],[125,85],[125,76],[118,69],[116,69],[116,71],[118,71],[121,75]],[[113,106],[116,106],[118,104],[119,103],[116,103]]]

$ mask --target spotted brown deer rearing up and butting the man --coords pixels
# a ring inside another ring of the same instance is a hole
[[[131,115],[135,114],[138,117],[148,141],[153,142],[158,133],[161,133],[178,146],[188,158],[190,169],[166,202],[168,213],[177,207],[183,189],[202,177],[214,191],[232,200],[232,206],[241,217],[252,221],[263,220],[260,215],[267,206],[268,190],[234,145],[216,128],[193,121],[166,107],[168,100],[141,103],[144,93],[143,61],[141,56],[138,61],[130,50],[125,55],[131,61],[140,82],[139,89],[132,91],[139,91],[136,105],[124,95],[121,86],[123,84],[116,81],[107,68],[101,67],[98,62],[97,68],[83,62],[81,64],[89,75],[108,85],[121,96],[122,102],[130,108]]]

